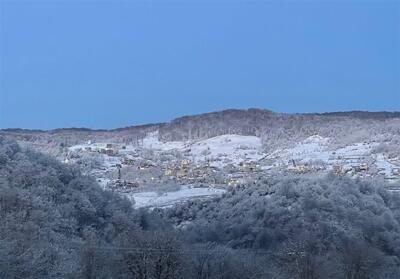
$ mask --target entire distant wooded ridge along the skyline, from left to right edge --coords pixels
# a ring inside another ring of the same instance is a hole
[[[227,109],[176,118],[167,123],[110,130],[61,128],[54,130],[3,129],[0,134],[46,146],[72,145],[87,140],[135,142],[158,131],[162,141],[206,139],[224,134],[252,135],[266,146],[281,146],[312,135],[338,143],[400,135],[400,112],[277,113],[266,109]]]

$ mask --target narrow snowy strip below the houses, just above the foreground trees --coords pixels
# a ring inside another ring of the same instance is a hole
[[[194,188],[183,186],[180,190],[159,194],[156,192],[132,193],[128,198],[135,201],[134,207],[168,207],[196,198],[220,196],[226,190],[217,188]]]

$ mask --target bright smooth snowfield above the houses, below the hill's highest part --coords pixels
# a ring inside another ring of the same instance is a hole
[[[217,167],[226,163],[258,161],[263,157],[261,139],[255,136],[222,135],[195,142],[188,148],[189,156],[195,161],[210,160],[211,165]]]

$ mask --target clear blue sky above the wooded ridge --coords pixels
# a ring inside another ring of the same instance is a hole
[[[0,0],[0,128],[400,110],[399,1]]]

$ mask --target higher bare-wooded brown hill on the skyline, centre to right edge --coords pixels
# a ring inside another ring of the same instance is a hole
[[[349,144],[400,137],[399,112],[286,114],[269,110],[224,110],[177,118],[160,126],[163,140],[203,139],[223,134],[254,135],[266,148],[293,144],[312,135]],[[352,133],[348,133],[349,129]]]

